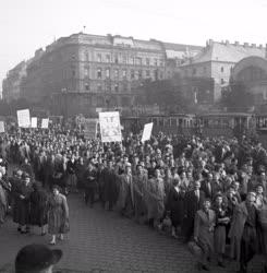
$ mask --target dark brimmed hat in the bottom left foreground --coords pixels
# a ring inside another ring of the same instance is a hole
[[[45,245],[28,245],[23,247],[15,258],[15,272],[29,273],[41,271],[56,264],[62,257],[60,249],[49,249]]]

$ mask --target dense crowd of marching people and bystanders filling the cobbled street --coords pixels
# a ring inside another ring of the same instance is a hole
[[[9,176],[9,164],[17,168]],[[160,233],[170,229],[209,270],[236,260],[240,272],[267,251],[267,153],[243,136],[178,136],[150,141],[129,132],[121,143],[85,140],[77,130],[10,132],[0,143],[0,225],[12,209],[21,234],[40,227],[51,245],[70,230],[68,194],[118,211]],[[46,228],[48,227],[48,228]],[[227,251],[227,246],[230,250]]]

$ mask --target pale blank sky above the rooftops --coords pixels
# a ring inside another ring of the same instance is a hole
[[[266,14],[267,0],[2,0],[0,82],[36,49],[83,26],[89,34],[180,44],[204,46],[211,38],[265,45]]]

